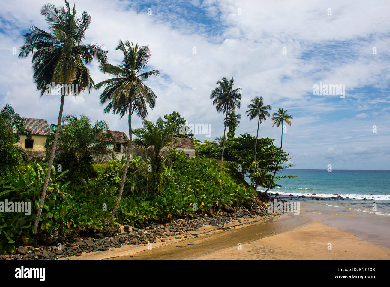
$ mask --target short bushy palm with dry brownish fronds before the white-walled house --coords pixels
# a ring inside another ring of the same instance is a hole
[[[172,135],[174,134],[173,125],[170,122],[164,123],[161,118],[157,119],[156,124],[146,119],[142,121],[142,124],[143,128],[133,130],[133,134],[137,136],[134,139],[136,144],[135,150],[149,158],[152,169],[147,189],[150,182],[151,190],[158,193],[160,191],[163,159],[168,154],[175,152],[172,146],[177,141],[180,141],[180,138],[172,141]]]

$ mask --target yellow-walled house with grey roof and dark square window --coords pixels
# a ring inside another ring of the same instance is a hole
[[[21,146],[27,151],[32,151],[37,160],[45,158],[44,144],[50,130],[47,119],[32,119],[22,118],[25,128],[31,131],[31,139],[27,139],[25,135],[20,135],[20,141],[16,145]]]

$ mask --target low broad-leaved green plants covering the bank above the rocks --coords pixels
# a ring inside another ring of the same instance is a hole
[[[210,207],[240,204],[250,200],[252,189],[237,184],[228,172],[218,172],[216,160],[179,156],[164,167],[161,190],[146,192],[148,171],[126,177],[124,195],[113,223],[142,225],[151,220],[192,216]],[[125,160],[94,166],[97,176],[88,182],[70,181],[68,171],[51,172],[48,192],[39,222],[42,232],[66,235],[77,230],[103,228],[117,201]],[[139,157],[129,162],[129,174],[145,165]],[[31,213],[0,213],[0,250],[14,251],[16,244],[33,242],[32,223],[39,208],[47,163],[32,162],[23,170],[0,176],[0,201],[32,202]]]

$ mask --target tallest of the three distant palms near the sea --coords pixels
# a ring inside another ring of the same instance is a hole
[[[233,77],[228,80],[226,77],[222,78],[222,81],[219,80],[217,83],[219,85],[211,92],[210,99],[213,100],[213,105],[218,113],[226,112],[225,118],[229,111],[235,112],[236,107],[239,109],[241,107],[241,88],[238,87],[233,89],[234,79]],[[223,162],[223,152],[225,150],[225,134],[226,134],[226,125],[227,121],[225,120],[225,128],[223,130],[223,143],[222,143],[222,158],[218,171],[220,171],[222,162]]]

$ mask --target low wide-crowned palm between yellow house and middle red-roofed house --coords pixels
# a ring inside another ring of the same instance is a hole
[[[111,148],[115,137],[106,131],[106,121],[97,120],[93,124],[89,117],[82,114],[80,119],[77,116],[65,115],[62,117],[61,132],[58,136],[57,151],[72,155],[74,161],[99,155],[113,155]],[[51,152],[54,143],[54,135],[46,139],[46,154]],[[69,167],[71,174],[72,164]]]

